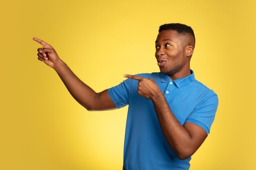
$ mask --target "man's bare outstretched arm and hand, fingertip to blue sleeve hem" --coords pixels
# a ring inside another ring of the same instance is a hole
[[[111,110],[116,108],[108,95],[107,89],[100,93],[96,93],[70,70],[70,68],[58,57],[58,54],[51,45],[35,37],[33,40],[43,46],[43,48],[38,48],[37,50],[38,60],[54,68],[67,87],[67,90],[79,104],[90,111]]]

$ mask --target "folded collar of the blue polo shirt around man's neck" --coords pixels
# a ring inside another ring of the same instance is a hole
[[[168,82],[174,82],[178,88],[185,86],[186,84],[189,84],[189,82],[193,81],[195,79],[194,71],[190,69],[190,75],[186,77],[182,77],[180,79],[172,80],[168,75],[161,74],[161,82],[162,83],[168,83]]]

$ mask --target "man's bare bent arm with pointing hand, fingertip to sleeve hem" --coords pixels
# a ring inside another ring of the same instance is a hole
[[[153,79],[128,74],[124,77],[138,80],[138,94],[153,102],[164,137],[177,157],[186,159],[193,155],[207,137],[205,130],[189,122],[182,126]]]

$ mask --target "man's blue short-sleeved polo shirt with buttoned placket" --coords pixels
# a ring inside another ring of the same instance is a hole
[[[191,75],[172,80],[162,73],[137,74],[152,78],[166,98],[181,125],[191,122],[202,127],[207,135],[218,107],[218,97]],[[180,160],[168,145],[150,99],[137,93],[138,81],[126,79],[108,89],[117,108],[129,105],[124,140],[126,170],[188,170],[191,157]]]

